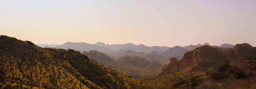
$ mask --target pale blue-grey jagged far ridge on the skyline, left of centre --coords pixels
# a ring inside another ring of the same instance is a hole
[[[142,53],[150,53],[152,51],[165,51],[169,49],[169,47],[163,46],[154,46],[154,47],[148,47],[143,44],[135,45],[132,43],[127,44],[105,44],[103,42],[97,42],[95,44],[89,44],[85,42],[66,42],[65,44],[58,45],[55,48],[63,48],[63,49],[74,49],[76,51],[84,52],[84,51],[90,51],[90,50],[97,50],[102,53],[111,53],[112,51],[118,51],[118,50],[133,50],[135,52],[142,52]]]

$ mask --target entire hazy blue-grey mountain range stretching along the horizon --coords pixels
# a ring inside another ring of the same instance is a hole
[[[37,44],[42,47],[44,44]],[[63,49],[74,49],[76,51],[80,51],[83,53],[84,51],[90,51],[90,50],[97,50],[99,52],[102,52],[104,54],[107,54],[108,56],[117,59],[119,57],[123,57],[125,55],[130,56],[139,56],[144,59],[154,60],[164,60],[164,59],[170,59],[172,57],[177,58],[180,60],[183,57],[183,54],[185,52],[191,51],[195,49],[196,47],[201,47],[204,45],[209,45],[208,43],[205,44],[197,44],[197,45],[189,45],[185,47],[180,46],[174,46],[172,48],[170,47],[160,47],[160,46],[153,46],[148,47],[143,44],[140,45],[134,45],[132,43],[127,44],[105,44],[103,42],[97,42],[95,44],[89,44],[85,42],[66,42],[65,44],[57,45],[54,48],[63,48]],[[221,48],[233,48],[234,45],[231,44],[222,44],[220,46]],[[46,48],[49,48],[50,46],[46,46]],[[150,53],[150,54],[149,54]],[[147,57],[147,56],[153,56],[153,57]],[[168,64],[169,60],[159,61],[162,64]]]

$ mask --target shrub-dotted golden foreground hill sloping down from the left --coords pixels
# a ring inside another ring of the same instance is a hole
[[[0,36],[0,88],[140,89],[148,87],[72,49],[41,48]]]

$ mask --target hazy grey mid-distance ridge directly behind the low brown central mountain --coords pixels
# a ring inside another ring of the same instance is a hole
[[[118,51],[112,51],[111,53],[106,53],[106,54],[114,59],[118,59],[120,57],[129,55],[129,56],[138,56],[140,58],[148,60],[149,62],[157,61],[162,64],[168,64],[170,62],[169,60],[159,55],[134,52],[132,50],[118,50]]]

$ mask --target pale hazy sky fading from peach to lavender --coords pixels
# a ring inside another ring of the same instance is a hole
[[[256,0],[0,0],[0,34],[38,44],[256,46]]]

